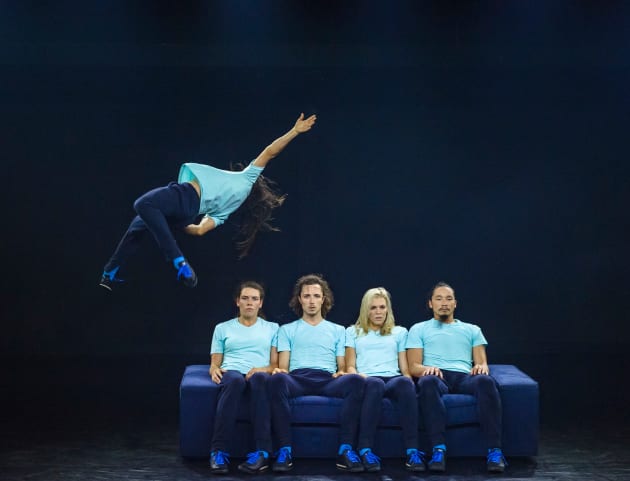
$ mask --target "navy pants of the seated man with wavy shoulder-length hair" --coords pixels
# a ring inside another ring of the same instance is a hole
[[[268,382],[271,399],[271,421],[279,447],[291,446],[291,410],[289,399],[319,395],[343,399],[339,415],[339,444],[353,445],[357,435],[359,406],[363,398],[364,379],[358,374],[336,378],[321,369],[296,369],[290,374],[274,374]]]

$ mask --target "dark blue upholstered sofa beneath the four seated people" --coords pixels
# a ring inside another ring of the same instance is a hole
[[[186,367],[180,385],[180,454],[207,457],[214,424],[218,387],[208,375],[208,365]],[[490,374],[497,381],[503,404],[503,451],[506,456],[538,453],[538,383],[512,365],[494,364]],[[464,394],[444,396],[447,408],[447,446],[450,456],[485,456],[476,400]],[[338,447],[341,399],[302,396],[291,400],[293,452],[296,457],[329,458]],[[420,416],[422,419],[422,416]],[[420,421],[420,447],[427,447]],[[246,401],[241,403],[228,452],[243,457],[254,448]],[[401,457],[399,417],[395,405],[383,400],[383,411],[374,452],[381,457]]]

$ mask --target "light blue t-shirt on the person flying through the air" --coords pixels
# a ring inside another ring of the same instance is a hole
[[[197,180],[201,187],[199,213],[214,220],[216,226],[225,222],[238,209],[250,191],[263,167],[250,163],[241,171],[221,170],[210,165],[186,163],[179,169],[178,182]]]

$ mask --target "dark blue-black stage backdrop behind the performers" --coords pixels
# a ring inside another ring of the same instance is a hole
[[[318,272],[344,325],[370,287],[409,327],[451,283],[490,360],[550,405],[621,379],[627,4],[100,3],[2,3],[3,354],[204,362],[238,281],[284,323]],[[300,112],[317,125],[265,172],[288,194],[281,232],[242,261],[228,225],[181,236],[195,290],[150,242],[119,292],[98,288],[139,195],[185,161],[248,162]]]

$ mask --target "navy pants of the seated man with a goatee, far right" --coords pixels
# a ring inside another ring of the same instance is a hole
[[[431,447],[446,444],[446,407],[443,394],[472,394],[477,398],[479,424],[488,448],[501,447],[501,398],[496,382],[488,375],[471,376],[463,372],[442,370],[444,380],[438,376],[418,378],[418,402]]]

